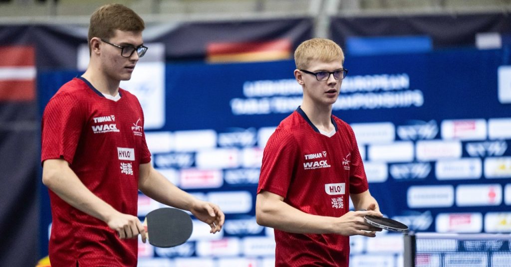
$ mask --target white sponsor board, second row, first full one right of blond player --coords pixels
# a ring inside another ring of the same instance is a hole
[[[396,141],[389,144],[370,144],[368,158],[380,162],[409,162],[413,161],[413,142]]]

